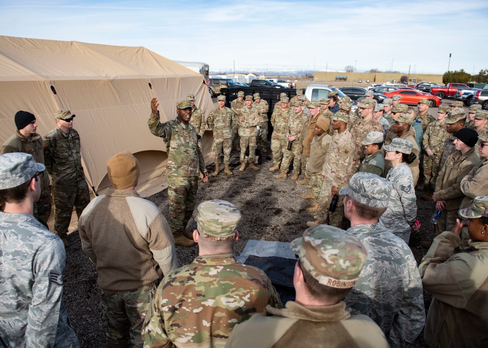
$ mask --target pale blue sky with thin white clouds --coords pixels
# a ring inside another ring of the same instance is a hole
[[[485,0],[5,1],[0,35],[144,46],[211,70],[488,68]],[[357,62],[356,62],[357,61]]]

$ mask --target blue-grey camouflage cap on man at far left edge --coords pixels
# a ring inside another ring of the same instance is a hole
[[[42,172],[46,167],[36,163],[34,157],[22,152],[13,152],[0,156],[0,190],[20,186]]]

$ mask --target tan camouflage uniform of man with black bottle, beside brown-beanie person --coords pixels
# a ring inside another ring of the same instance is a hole
[[[339,113],[338,113],[339,114]],[[344,114],[344,113],[341,113]],[[344,114],[346,115],[346,114]],[[333,117],[337,116],[334,115]],[[344,215],[344,197],[339,197],[335,212],[329,212],[330,201],[332,199],[332,186],[339,190],[346,187],[352,175],[352,160],[354,156],[354,142],[351,134],[346,129],[342,133],[332,136],[329,145],[329,152],[325,156],[322,175],[324,181],[320,190],[319,208],[317,222],[327,223],[340,227]]]

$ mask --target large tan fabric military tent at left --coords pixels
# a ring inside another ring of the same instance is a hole
[[[69,109],[88,185],[98,193],[110,186],[106,160],[123,150],[139,159],[142,196],[167,186],[163,140],[147,127],[150,100],[159,99],[164,122],[190,93],[207,115],[213,104],[202,75],[144,47],[0,36],[0,144],[14,134],[17,111],[33,113],[45,135],[56,126],[54,112]],[[211,132],[202,147],[211,162]]]

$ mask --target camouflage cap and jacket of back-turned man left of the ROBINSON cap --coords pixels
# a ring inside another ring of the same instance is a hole
[[[231,203],[199,205],[199,238],[235,238],[241,213]],[[266,274],[238,263],[232,253],[200,255],[166,275],[144,321],[144,347],[223,347],[232,328],[267,305],[281,308]]]

